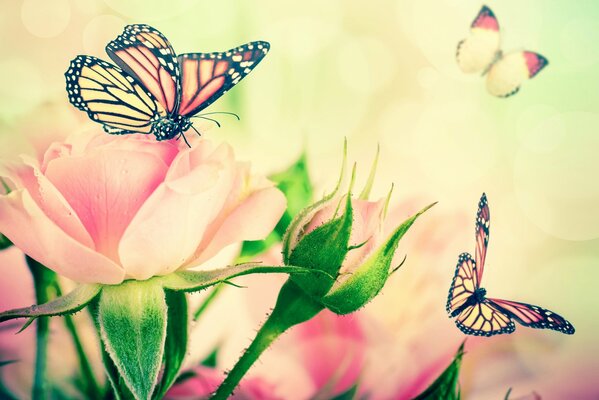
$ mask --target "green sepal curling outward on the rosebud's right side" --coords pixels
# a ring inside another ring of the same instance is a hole
[[[322,303],[337,314],[349,314],[372,300],[383,288],[391,273],[391,263],[400,239],[416,219],[433,203],[404,221],[387,241],[341,283],[335,285]]]

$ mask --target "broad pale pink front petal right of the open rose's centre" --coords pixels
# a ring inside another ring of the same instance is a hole
[[[147,279],[185,263],[221,211],[234,166],[228,146],[213,150],[206,141],[179,154],[123,235],[119,254],[128,276]]]

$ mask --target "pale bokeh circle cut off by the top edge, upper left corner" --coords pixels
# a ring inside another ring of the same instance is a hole
[[[21,20],[32,35],[51,38],[60,35],[71,19],[68,0],[24,0],[21,5]]]

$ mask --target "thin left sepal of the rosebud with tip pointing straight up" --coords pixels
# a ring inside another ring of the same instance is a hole
[[[291,252],[295,248],[296,242],[299,240],[300,235],[303,233],[305,226],[310,222],[314,214],[319,210],[326,207],[328,203],[335,199],[339,189],[343,183],[345,177],[345,168],[347,161],[347,141],[343,144],[343,161],[341,163],[341,173],[339,174],[339,180],[337,186],[328,195],[325,195],[322,199],[315,202],[312,205],[302,209],[297,213],[293,220],[289,223],[285,235],[283,236],[283,263],[286,265],[293,265],[290,262]]]

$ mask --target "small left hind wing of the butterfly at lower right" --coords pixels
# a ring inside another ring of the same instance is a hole
[[[453,314],[462,306],[466,300],[478,289],[478,274],[476,272],[476,262],[468,253],[460,254],[456,266],[445,309],[449,314]]]

